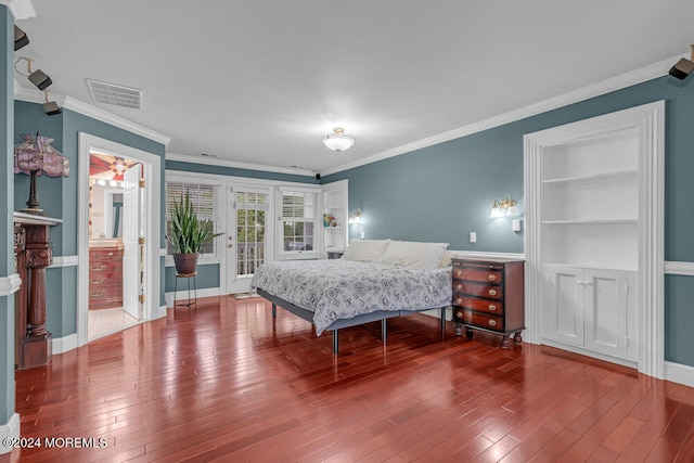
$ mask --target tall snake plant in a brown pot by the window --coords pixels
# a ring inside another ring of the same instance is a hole
[[[198,220],[191,203],[190,193],[174,202],[171,207],[171,229],[166,241],[171,245],[176,271],[180,275],[195,273],[197,256],[203,243],[222,233],[214,232],[211,220]]]

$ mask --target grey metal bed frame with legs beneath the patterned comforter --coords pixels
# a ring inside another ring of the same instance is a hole
[[[273,296],[272,294],[261,290],[261,288],[256,288],[256,291],[258,292],[258,295],[261,296],[262,298],[269,300],[270,303],[272,303],[272,318],[277,318],[278,316],[278,306],[282,307],[283,309],[294,313],[295,316],[298,316],[300,318],[303,318],[304,320],[306,320],[307,322],[313,323],[313,312],[310,310],[306,310],[303,309],[301,307],[295,306],[292,303],[287,303],[286,300],[282,299],[281,297],[278,296]],[[364,323],[369,323],[369,322],[374,322],[377,320],[381,320],[381,338],[383,339],[383,342],[386,342],[386,320],[393,317],[400,317],[400,316],[407,316],[408,313],[416,313],[416,312],[423,312],[426,310],[434,310],[434,309],[440,309],[441,310],[441,338],[446,337],[446,309],[449,306],[444,306],[444,307],[429,307],[426,309],[419,309],[419,310],[377,310],[375,312],[371,312],[371,313],[361,313],[358,314],[351,319],[337,319],[334,322],[332,322],[326,329],[325,331],[332,331],[333,332],[333,353],[337,355],[338,350],[339,350],[339,336],[338,336],[338,332],[340,329],[343,327],[350,327],[350,326],[357,326],[360,324],[364,324]]]

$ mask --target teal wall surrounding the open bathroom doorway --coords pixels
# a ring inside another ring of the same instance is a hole
[[[77,255],[77,172],[79,169],[79,132],[89,133],[124,145],[132,146],[164,157],[165,146],[144,137],[93,119],[70,110],[55,116],[48,116],[40,104],[15,102],[14,140],[21,141],[22,133],[39,133],[52,138],[53,147],[70,160],[70,176],[67,178],[39,177],[37,189],[41,207],[51,216],[63,220],[51,227],[51,242],[54,256]],[[164,178],[164,163],[159,176]],[[17,175],[14,184],[14,207],[22,209],[29,194],[28,176]],[[164,204],[159,216],[164,227]],[[158,237],[157,247],[164,246],[164,235]],[[160,263],[159,306],[164,303],[164,260]],[[77,332],[77,268],[51,268],[47,271],[47,290],[51,297],[47,300],[47,327],[53,337],[64,337]]]

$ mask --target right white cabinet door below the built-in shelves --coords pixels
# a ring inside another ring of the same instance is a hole
[[[584,346],[627,358],[627,272],[583,270]]]

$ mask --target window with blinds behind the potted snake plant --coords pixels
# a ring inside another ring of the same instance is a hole
[[[220,220],[217,207],[218,188],[204,183],[166,182],[166,232],[171,230],[171,210],[174,203],[181,201],[185,194],[190,194],[191,203],[198,220],[211,220],[214,230],[218,230]],[[171,254],[171,245],[167,244],[167,253]],[[201,253],[205,255],[216,255],[215,239],[209,239],[203,243]]]

